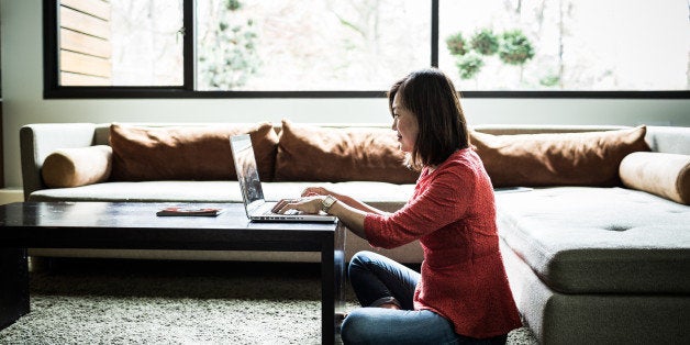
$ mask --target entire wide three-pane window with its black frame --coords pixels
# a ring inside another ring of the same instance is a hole
[[[690,98],[687,0],[44,0],[46,98]],[[59,23],[59,24],[58,24]]]

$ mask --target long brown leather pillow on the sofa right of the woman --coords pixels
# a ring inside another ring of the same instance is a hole
[[[646,126],[638,126],[563,134],[470,134],[494,187],[611,187],[621,185],[619,165],[625,156],[649,151],[646,132]]]

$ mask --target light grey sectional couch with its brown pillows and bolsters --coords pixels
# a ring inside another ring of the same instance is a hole
[[[388,125],[45,123],[21,129],[25,200],[240,202],[226,145],[237,132],[252,135],[269,200],[318,183],[396,211],[416,178],[401,167]],[[542,343],[690,343],[690,129],[481,125],[471,141],[497,191],[515,301]],[[416,243],[378,249],[347,236],[346,255],[360,249],[422,260]],[[30,255],[318,260],[261,252]]]

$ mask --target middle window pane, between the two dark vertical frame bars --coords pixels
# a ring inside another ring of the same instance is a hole
[[[199,90],[385,90],[430,66],[419,0],[197,2]]]

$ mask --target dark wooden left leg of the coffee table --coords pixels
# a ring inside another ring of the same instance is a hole
[[[0,248],[0,330],[29,313],[25,248]]]

